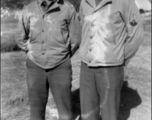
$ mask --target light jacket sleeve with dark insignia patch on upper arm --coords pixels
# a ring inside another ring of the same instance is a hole
[[[143,24],[139,10],[134,0],[128,0],[125,10],[125,24],[127,27],[127,39],[125,40],[125,65],[137,52],[143,41]]]

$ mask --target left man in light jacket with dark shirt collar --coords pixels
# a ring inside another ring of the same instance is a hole
[[[70,57],[80,44],[74,7],[64,0],[35,0],[20,17],[16,42],[27,53],[30,120],[45,120],[51,89],[59,120],[72,120]]]

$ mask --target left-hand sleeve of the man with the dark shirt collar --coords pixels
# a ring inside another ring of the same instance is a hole
[[[18,31],[16,33],[16,44],[23,50],[28,51],[27,41],[29,39],[29,22],[27,10],[24,8],[18,15]]]

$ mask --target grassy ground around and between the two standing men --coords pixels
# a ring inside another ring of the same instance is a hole
[[[8,25],[12,27],[11,25]],[[151,120],[151,20],[144,20],[145,35],[136,56],[125,68],[119,120]],[[2,38],[2,45],[15,46],[14,33]],[[5,41],[8,40],[8,41]],[[11,41],[10,41],[11,40]],[[5,42],[6,43],[5,43]],[[6,47],[9,48],[9,47]],[[10,48],[9,48],[10,49]],[[4,51],[12,51],[4,49]],[[1,49],[2,51],[2,49]],[[1,120],[28,120],[29,103],[26,89],[26,55],[23,52],[1,53]],[[79,113],[79,73],[80,58],[77,53],[72,58],[73,69],[73,111]],[[56,114],[50,94],[46,118],[53,120]]]

